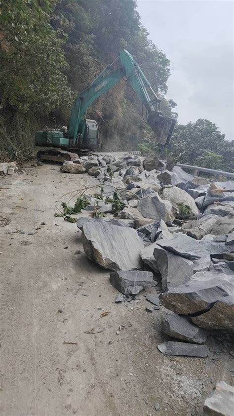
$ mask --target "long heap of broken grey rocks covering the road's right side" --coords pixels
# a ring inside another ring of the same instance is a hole
[[[206,330],[234,332],[234,181],[169,171],[154,155],[75,162],[61,171],[87,171],[101,182],[100,194],[117,190],[124,204],[114,217],[108,200],[85,196],[85,209],[107,215],[78,218],[88,258],[112,271],[111,284],[124,296],[161,287],[161,304],[171,311],[162,331],[173,339],[158,345],[163,354],[208,355]]]

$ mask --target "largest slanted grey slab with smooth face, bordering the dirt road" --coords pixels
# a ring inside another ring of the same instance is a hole
[[[144,242],[132,228],[106,222],[83,225],[82,244],[85,254],[101,267],[110,270],[140,269],[140,251]]]

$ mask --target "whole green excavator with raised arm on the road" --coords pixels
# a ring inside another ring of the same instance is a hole
[[[85,118],[87,109],[96,98],[121,79],[130,83],[142,105],[145,106],[145,122],[154,131],[160,156],[164,146],[169,144],[175,120],[163,117],[160,111],[160,99],[132,55],[123,49],[114,62],[108,65],[76,98],[68,127],[46,128],[36,132],[36,146],[48,147],[46,150],[39,150],[38,159],[64,162],[76,159],[77,154],[85,151],[97,150],[100,146],[99,128],[95,120]]]

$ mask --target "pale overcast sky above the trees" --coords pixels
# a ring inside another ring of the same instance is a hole
[[[234,2],[137,0],[149,38],[170,60],[167,98],[179,123],[215,123],[234,139]]]

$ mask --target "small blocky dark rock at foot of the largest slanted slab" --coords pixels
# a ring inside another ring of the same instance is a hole
[[[140,270],[116,271],[110,274],[112,286],[123,294],[137,294],[153,281],[152,272]]]

